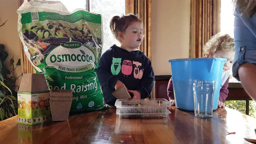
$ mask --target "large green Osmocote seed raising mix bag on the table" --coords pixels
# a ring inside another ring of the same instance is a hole
[[[18,9],[24,51],[50,89],[73,90],[71,112],[109,108],[96,75],[102,53],[102,16],[69,12],[59,1],[32,0]]]

